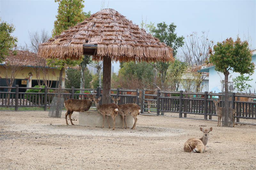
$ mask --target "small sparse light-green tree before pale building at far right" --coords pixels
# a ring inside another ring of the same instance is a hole
[[[237,89],[237,92],[242,93],[243,91],[246,91],[249,89],[249,87],[252,87],[251,85],[247,84],[247,81],[252,81],[253,79],[250,79],[249,76],[245,77],[243,74],[241,74],[240,76],[237,76],[236,78],[232,79],[234,84],[235,84],[235,88]]]

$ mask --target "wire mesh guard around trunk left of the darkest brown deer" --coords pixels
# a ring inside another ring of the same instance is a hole
[[[61,117],[62,107],[64,104],[64,85],[65,78],[57,78],[56,89],[54,91],[54,97],[52,99],[49,117]]]

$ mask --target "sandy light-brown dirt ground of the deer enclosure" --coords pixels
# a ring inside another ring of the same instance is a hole
[[[253,125],[139,115],[135,130],[112,130],[79,126],[78,112],[68,126],[64,115],[0,111],[0,169],[256,169]],[[200,127],[213,128],[208,151],[184,152]]]

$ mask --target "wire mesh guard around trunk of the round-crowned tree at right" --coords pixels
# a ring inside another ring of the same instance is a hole
[[[228,82],[228,98],[226,98],[226,93],[225,93],[225,84],[224,81],[222,82],[222,101],[221,101],[221,107],[222,107],[222,126],[225,127],[233,127],[233,121],[234,121],[234,116],[233,116],[233,82]],[[226,101],[226,99],[228,99]],[[225,107],[225,103],[228,102],[228,107]]]

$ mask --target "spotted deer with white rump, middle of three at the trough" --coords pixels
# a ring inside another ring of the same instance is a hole
[[[103,118],[103,123],[102,123],[102,127],[104,127],[104,119],[105,119],[105,115],[107,115],[107,119],[108,119],[108,116],[111,116],[112,119],[113,119],[113,129],[112,130],[115,130],[115,123],[116,123],[116,115],[117,115],[117,112],[119,110],[119,107],[116,105],[116,104],[103,104],[103,105],[100,105],[100,99],[95,99],[93,97],[93,100],[95,102],[95,105],[97,107],[97,110],[102,114],[102,118]],[[109,122],[108,122],[108,128],[110,129],[110,125],[109,125]]]

